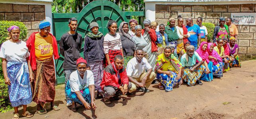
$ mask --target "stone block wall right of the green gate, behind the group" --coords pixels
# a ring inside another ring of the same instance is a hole
[[[231,12],[256,12],[256,4],[229,4],[229,5],[156,5],[156,21],[158,24],[167,24],[169,18],[177,19],[181,15],[185,20],[193,18],[196,23],[197,17],[202,17],[203,22],[215,25],[219,23],[219,17],[230,17]],[[177,20],[176,20],[177,22]],[[177,23],[176,23],[177,24]],[[238,25],[239,57],[242,60],[256,58],[256,25]]]

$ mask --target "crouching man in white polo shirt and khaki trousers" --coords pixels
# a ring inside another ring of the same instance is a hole
[[[138,48],[136,50],[136,57],[132,58],[126,66],[127,76],[129,81],[132,82],[132,88],[130,89],[131,92],[136,90],[136,85],[140,87],[139,91],[150,92],[148,87],[156,78],[156,73],[152,72],[153,69],[151,65],[143,55],[143,50]],[[145,69],[147,72],[145,72]]]

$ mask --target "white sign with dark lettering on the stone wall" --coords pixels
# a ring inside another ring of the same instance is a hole
[[[256,13],[231,13],[235,25],[256,25]]]

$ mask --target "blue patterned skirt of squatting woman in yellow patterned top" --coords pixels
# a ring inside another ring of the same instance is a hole
[[[166,74],[163,73],[157,73],[156,74],[156,78],[160,79],[160,82],[165,86],[165,92],[171,91],[173,89],[173,86],[179,84],[179,81],[181,80],[181,78],[179,80],[176,80],[177,74],[169,71],[172,73],[171,76],[168,76]]]

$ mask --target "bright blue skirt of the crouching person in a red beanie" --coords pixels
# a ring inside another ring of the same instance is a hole
[[[77,94],[75,94],[75,92],[71,92],[71,88],[70,88],[70,83],[69,81],[67,82],[67,87],[65,88],[65,92],[67,93],[67,96],[74,102],[77,102],[79,104],[83,104],[79,98],[77,97]],[[82,94],[83,98],[85,99],[86,102],[88,102],[89,104],[91,104],[91,95],[90,95],[90,91],[89,88],[85,88],[84,90],[80,90],[80,93]]]

